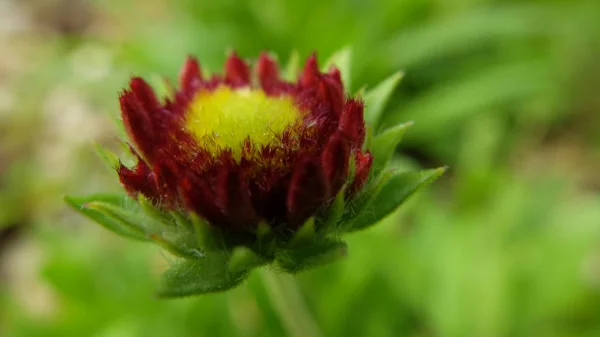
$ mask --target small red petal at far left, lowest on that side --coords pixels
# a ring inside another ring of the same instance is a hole
[[[119,174],[121,184],[123,184],[127,193],[132,197],[141,193],[153,201],[159,200],[160,194],[154,173],[152,173],[146,162],[141,158],[138,158],[138,162],[133,170],[119,163],[117,173]]]

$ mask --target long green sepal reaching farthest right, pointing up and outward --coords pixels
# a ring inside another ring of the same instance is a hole
[[[352,221],[350,231],[365,229],[394,212],[408,197],[439,178],[446,167],[420,172],[394,172],[369,204]]]

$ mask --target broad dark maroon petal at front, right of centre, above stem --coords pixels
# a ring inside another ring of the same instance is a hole
[[[321,164],[305,158],[296,167],[287,194],[288,223],[300,226],[327,201],[329,184]]]

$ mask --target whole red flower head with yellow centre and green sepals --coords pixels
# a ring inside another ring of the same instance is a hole
[[[120,95],[136,163],[98,147],[124,194],[66,197],[104,227],[159,244],[180,259],[159,294],[224,291],[262,265],[297,273],[345,256],[341,235],[392,213],[445,168],[387,169],[411,123],[373,134],[400,80],[357,97],[342,73],[310,56],[295,81],[262,53],[254,68],[235,53],[224,75],[188,58],[163,102],[143,79]]]

